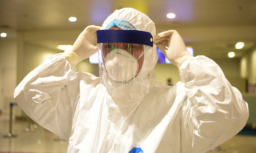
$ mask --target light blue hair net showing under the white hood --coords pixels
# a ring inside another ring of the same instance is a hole
[[[125,20],[114,20],[109,23],[105,29],[108,30],[114,26],[117,26],[123,30],[137,30],[131,23]]]

